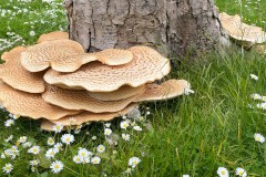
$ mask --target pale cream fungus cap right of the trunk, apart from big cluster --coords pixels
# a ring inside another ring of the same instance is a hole
[[[242,43],[243,45],[250,46],[254,43],[266,42],[266,33],[263,29],[243,23],[238,14],[228,15],[226,13],[219,13],[219,19],[229,37],[237,41],[245,42]]]

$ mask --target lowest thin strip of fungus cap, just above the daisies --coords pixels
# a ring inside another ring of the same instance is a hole
[[[41,124],[41,128],[45,131],[52,131],[54,125],[62,126],[76,126],[82,125],[89,122],[99,122],[99,121],[111,121],[115,117],[127,114],[132,108],[134,108],[136,104],[130,104],[124,110],[115,113],[90,113],[82,112],[72,116],[64,116],[57,121],[47,121],[44,119]]]

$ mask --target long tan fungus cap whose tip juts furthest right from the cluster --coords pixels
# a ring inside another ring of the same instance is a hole
[[[93,113],[117,112],[126,107],[132,102],[166,100],[178,96],[190,87],[190,83],[184,80],[170,80],[162,85],[147,84],[145,93],[120,101],[99,101],[92,98],[86,91],[73,91],[48,86],[42,94],[45,102],[66,108],[89,111]]]

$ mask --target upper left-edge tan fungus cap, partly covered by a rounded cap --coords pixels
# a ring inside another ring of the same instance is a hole
[[[0,65],[0,79],[13,88],[29,92],[44,92],[43,72],[31,73],[21,65],[20,55],[25,51],[23,46],[17,46],[9,52],[4,52],[2,58],[4,64]]]

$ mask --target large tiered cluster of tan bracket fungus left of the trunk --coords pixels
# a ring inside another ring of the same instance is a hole
[[[110,121],[140,102],[172,98],[190,88],[185,80],[154,83],[171,66],[151,48],[84,53],[63,32],[43,34],[38,44],[17,46],[1,58],[1,105],[12,114],[41,118],[47,131]]]

